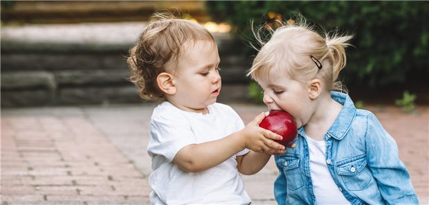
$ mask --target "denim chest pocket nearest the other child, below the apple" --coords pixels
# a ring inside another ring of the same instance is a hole
[[[289,190],[297,190],[304,186],[300,172],[299,154],[282,154],[278,156],[276,163],[286,176],[287,188]]]

